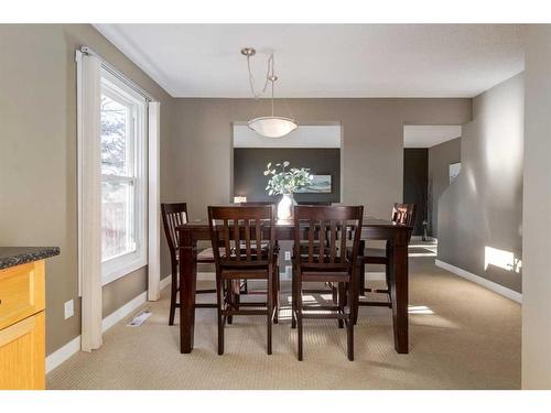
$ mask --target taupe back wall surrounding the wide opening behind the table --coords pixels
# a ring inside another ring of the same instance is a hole
[[[403,124],[458,124],[471,120],[471,99],[287,99],[299,124],[337,121],[343,127],[342,198],[389,216],[402,199]],[[175,139],[168,169],[173,200],[185,200],[192,218],[206,206],[230,200],[231,122],[269,110],[252,99],[176,99]],[[284,107],[281,106],[281,107]]]

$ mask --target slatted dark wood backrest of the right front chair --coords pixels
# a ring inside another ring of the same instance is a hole
[[[294,256],[300,257],[299,267],[352,271],[359,252],[363,218],[363,206],[295,206]],[[347,253],[347,239],[353,241],[352,256]]]

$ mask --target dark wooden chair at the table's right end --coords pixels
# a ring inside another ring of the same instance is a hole
[[[391,220],[395,224],[408,225],[412,226],[415,222],[415,213],[417,205],[415,204],[395,204],[392,207]],[[409,240],[408,240],[409,242]],[[387,301],[360,301],[358,305],[360,306],[383,306],[383,307],[392,307],[392,297],[390,294],[390,262],[389,262],[389,244],[385,249],[382,248],[366,248],[365,241],[360,242],[360,286],[359,294],[365,295],[365,293],[378,293],[386,294]],[[363,251],[363,252],[361,252]],[[385,265],[385,280],[386,287],[385,289],[370,289],[366,287],[366,264],[381,264]]]

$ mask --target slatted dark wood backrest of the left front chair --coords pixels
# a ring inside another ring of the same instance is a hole
[[[209,206],[208,226],[217,268],[273,264],[274,217],[274,205]]]

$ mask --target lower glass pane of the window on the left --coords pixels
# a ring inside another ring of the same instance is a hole
[[[132,183],[101,183],[101,259],[136,251]]]

